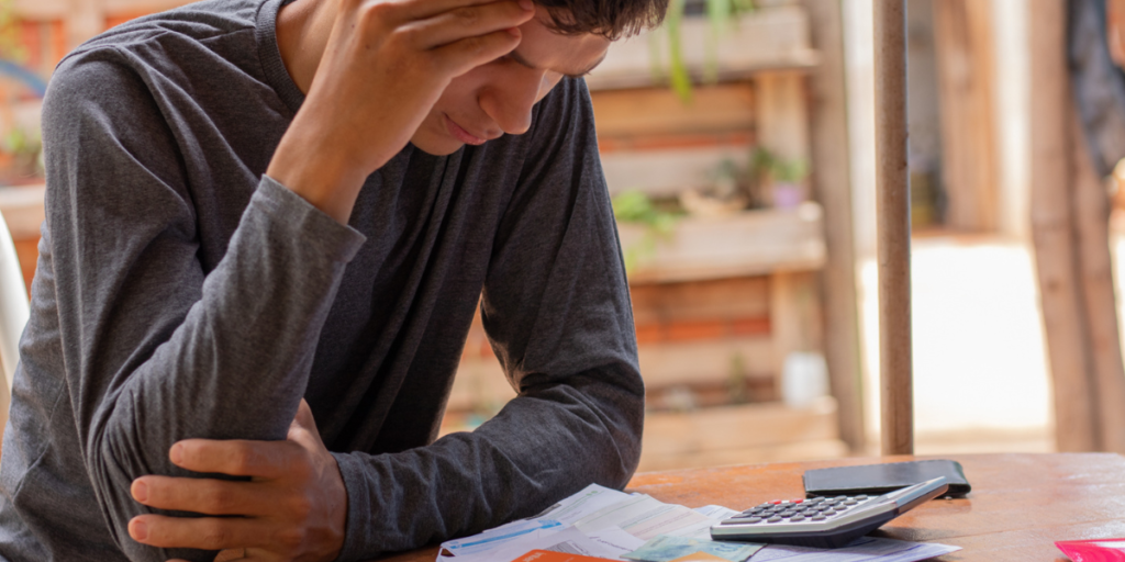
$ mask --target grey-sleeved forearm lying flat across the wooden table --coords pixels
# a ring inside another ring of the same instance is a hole
[[[336,454],[349,495],[341,560],[478,532],[592,482],[622,488],[642,423],[639,374],[614,365],[528,387],[472,433],[396,454]]]

